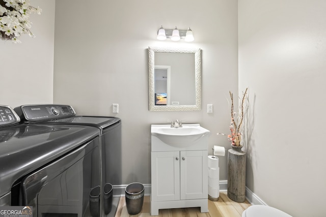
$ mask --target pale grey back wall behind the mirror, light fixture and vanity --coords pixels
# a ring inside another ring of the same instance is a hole
[[[158,28],[187,29],[192,43],[158,41]],[[55,103],[78,114],[122,119],[123,184],[150,183],[150,125],[186,119],[211,131],[209,148],[229,148],[229,90],[237,92],[237,1],[56,1]],[[149,112],[148,47],[202,49],[202,110]],[[112,104],[119,113],[112,113]],[[207,104],[214,113],[207,114]],[[227,179],[226,157],[221,180]]]

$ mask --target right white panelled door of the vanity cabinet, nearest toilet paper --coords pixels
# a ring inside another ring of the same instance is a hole
[[[180,151],[181,200],[207,198],[207,150]]]

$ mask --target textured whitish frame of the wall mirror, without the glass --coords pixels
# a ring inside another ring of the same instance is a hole
[[[195,54],[195,91],[196,99],[195,105],[167,105],[157,106],[154,102],[155,88],[154,88],[154,53],[194,53]],[[201,110],[201,51],[200,48],[159,48],[148,47],[148,102],[149,111],[199,111]]]

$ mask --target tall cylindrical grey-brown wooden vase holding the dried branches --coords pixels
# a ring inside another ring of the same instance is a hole
[[[241,148],[228,151],[228,197],[239,203],[246,200],[246,153]]]

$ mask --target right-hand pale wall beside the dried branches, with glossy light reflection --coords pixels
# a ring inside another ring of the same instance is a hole
[[[320,0],[238,1],[247,186],[296,217],[326,213],[325,10]]]

